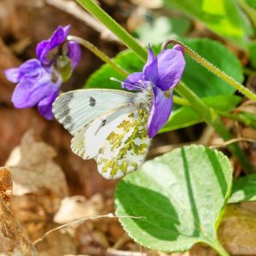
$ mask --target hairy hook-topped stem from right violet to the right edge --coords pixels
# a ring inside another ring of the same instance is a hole
[[[201,55],[198,55],[195,53],[193,49],[190,49],[187,45],[183,44],[180,41],[177,41],[175,39],[168,40],[163,45],[163,48],[166,49],[168,44],[180,44],[183,46],[183,49],[186,53],[190,55],[190,57],[196,61],[197,63],[201,64],[202,67],[206,67],[210,72],[214,73],[218,78],[223,79],[225,82],[236,88],[236,90],[239,90],[241,94],[244,96],[247,96],[247,98],[251,99],[252,101],[256,102],[256,95],[253,94],[251,90],[248,90],[245,86],[237,82],[235,79],[232,79],[230,76],[228,76],[226,73],[221,71],[218,67],[214,66],[211,62],[204,59]]]

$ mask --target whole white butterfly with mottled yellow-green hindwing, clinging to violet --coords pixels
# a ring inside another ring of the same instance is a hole
[[[115,179],[136,170],[148,153],[152,98],[148,90],[71,90],[61,94],[52,109],[73,135],[73,153],[84,160],[95,159],[98,172]]]

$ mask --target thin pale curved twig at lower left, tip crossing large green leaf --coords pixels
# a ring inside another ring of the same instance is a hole
[[[94,216],[94,217],[89,217],[89,218],[80,218],[77,220],[74,220],[72,222],[69,222],[67,224],[63,224],[59,227],[56,227],[55,229],[49,230],[47,231],[43,236],[39,237],[36,241],[33,241],[33,245],[35,246],[38,242],[43,241],[45,236],[48,236],[49,234],[51,234],[52,232],[56,231],[56,230],[61,230],[63,228],[66,228],[69,225],[73,225],[73,224],[78,224],[80,222],[84,222],[86,220],[91,220],[91,219],[96,219],[96,218],[145,218],[145,217],[137,217],[137,216],[115,216],[113,213],[108,213],[106,215],[98,215],[98,216]]]

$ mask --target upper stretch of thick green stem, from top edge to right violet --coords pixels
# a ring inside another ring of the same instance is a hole
[[[132,49],[143,61],[147,60],[147,51],[137,40],[125,31],[125,29],[113,20],[94,0],[76,0],[84,7],[91,15],[108,27],[128,48]]]

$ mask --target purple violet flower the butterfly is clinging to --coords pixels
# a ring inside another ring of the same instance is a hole
[[[154,56],[148,46],[148,61],[143,72],[131,73],[122,83],[127,90],[153,94],[148,118],[148,137],[154,137],[166,124],[172,111],[173,88],[182,78],[185,68],[183,48],[180,45],[165,49]]]

